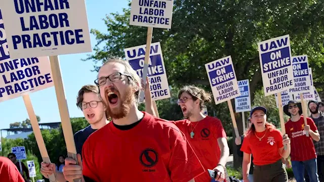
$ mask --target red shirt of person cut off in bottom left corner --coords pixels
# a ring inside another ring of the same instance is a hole
[[[2,156],[0,156],[0,179],[6,182],[25,182],[15,164]]]

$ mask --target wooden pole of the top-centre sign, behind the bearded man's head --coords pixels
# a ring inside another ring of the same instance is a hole
[[[149,58],[150,58],[152,35],[153,35],[153,27],[147,27],[146,50],[145,50],[145,59],[144,59],[143,76],[142,76],[144,86],[146,86],[146,76],[148,73],[148,63],[149,63]],[[140,98],[141,98],[141,101],[144,100],[144,92],[143,91],[141,91]],[[153,108],[154,108],[156,117],[159,117],[158,110],[156,107],[156,102],[152,101],[152,104],[153,104]]]

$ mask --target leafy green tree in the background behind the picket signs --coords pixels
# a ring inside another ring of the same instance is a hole
[[[262,88],[257,43],[290,34],[292,54],[308,55],[314,85],[321,93],[324,82],[321,73],[324,66],[323,7],[323,1],[309,0],[202,0],[198,3],[177,0],[174,1],[172,29],[154,29],[152,42],[161,42],[168,81],[173,87],[195,84],[211,90],[204,65],[231,55],[237,79],[250,79],[253,102],[255,91]],[[129,18],[130,8],[127,8],[121,14],[106,16],[107,32],[91,30],[98,43],[95,53],[85,60],[94,61],[95,71],[110,56],[125,57],[125,48],[145,44],[146,28],[130,26]],[[157,106],[159,111],[166,113],[173,109],[166,101],[158,101]],[[214,111],[225,128],[227,124],[230,126],[226,103],[212,106]],[[240,114],[235,116],[241,132]],[[226,131],[231,135],[230,130]]]

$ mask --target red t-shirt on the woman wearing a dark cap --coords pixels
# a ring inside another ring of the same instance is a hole
[[[257,138],[262,138],[261,141]],[[282,134],[277,129],[251,132],[245,136],[241,151],[253,155],[253,163],[258,166],[272,164],[281,159],[279,149],[282,144]]]

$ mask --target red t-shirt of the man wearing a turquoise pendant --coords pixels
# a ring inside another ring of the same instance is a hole
[[[196,177],[194,179],[195,182],[210,181],[211,177],[207,169],[214,169],[221,156],[217,139],[227,138],[222,122],[217,118],[207,116],[198,122],[180,120],[175,123],[184,132],[191,147],[205,168],[206,172]],[[190,137],[191,128],[194,132],[193,139]]]

